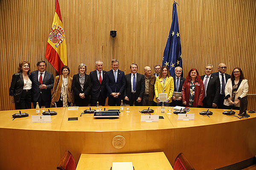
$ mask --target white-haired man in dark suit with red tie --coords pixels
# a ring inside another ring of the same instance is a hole
[[[107,71],[102,70],[102,66],[102,61],[96,61],[96,70],[90,72],[92,82],[91,106],[96,106],[97,102],[99,102],[99,105],[105,106],[107,98],[107,89],[105,86]]]

